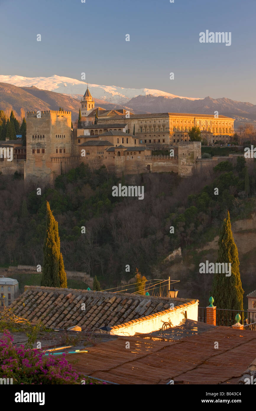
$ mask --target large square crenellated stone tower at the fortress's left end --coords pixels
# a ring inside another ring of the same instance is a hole
[[[24,179],[53,182],[57,175],[78,164],[75,148],[71,111],[28,112]]]

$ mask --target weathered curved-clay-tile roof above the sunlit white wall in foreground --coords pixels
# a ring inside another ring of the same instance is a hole
[[[154,319],[156,316],[173,312],[173,309],[170,309],[171,302],[174,309],[178,309],[194,304],[195,300],[25,286],[25,292],[9,307],[16,316],[31,322],[40,321],[50,328],[99,328],[107,324],[116,329],[144,321],[145,316],[147,319]],[[84,309],[82,304],[85,304]]]

